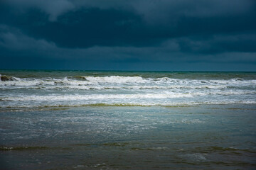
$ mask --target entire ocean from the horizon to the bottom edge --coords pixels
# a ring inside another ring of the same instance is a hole
[[[256,169],[256,72],[0,74],[1,169]]]

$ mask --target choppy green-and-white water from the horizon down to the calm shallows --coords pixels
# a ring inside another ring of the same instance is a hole
[[[256,103],[256,73],[2,71],[1,108]]]

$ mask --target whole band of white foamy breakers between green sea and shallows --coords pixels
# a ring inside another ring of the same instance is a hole
[[[19,79],[15,77],[13,81],[0,81],[0,104],[3,107],[27,107],[79,106],[97,103],[129,103],[146,106],[256,103],[255,84],[256,80],[252,79],[198,80],[120,76]]]

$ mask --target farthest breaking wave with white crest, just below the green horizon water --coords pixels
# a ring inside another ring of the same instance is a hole
[[[83,79],[31,79],[9,77],[11,81],[0,81],[0,89],[225,89],[233,86],[252,86],[255,88],[256,80],[228,79],[228,80],[195,80],[195,79],[171,79],[142,78],[142,77],[83,77]]]

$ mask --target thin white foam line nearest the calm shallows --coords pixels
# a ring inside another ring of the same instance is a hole
[[[199,91],[199,92],[170,92],[164,91],[158,94],[72,94],[72,95],[48,95],[38,96],[29,95],[24,96],[3,96],[0,101],[86,101],[86,100],[99,100],[99,99],[164,99],[164,98],[193,98],[196,96],[233,96],[233,95],[255,95],[256,91]]]

